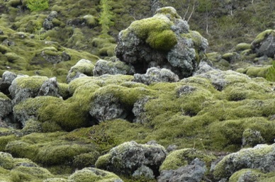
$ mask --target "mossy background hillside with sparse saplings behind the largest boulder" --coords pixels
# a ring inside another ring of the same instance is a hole
[[[103,2],[103,1],[102,1]],[[254,38],[264,30],[274,29],[275,3],[273,0],[264,1],[210,1],[210,0],[183,0],[183,1],[106,1],[111,13],[111,23],[108,24],[108,35],[102,35],[100,21],[103,16],[101,1],[49,1],[48,8],[43,11],[33,11],[27,7],[27,0],[10,0],[0,2],[0,29],[4,32],[0,35],[1,41],[8,37],[13,40],[3,42],[16,44],[18,49],[11,47],[6,50],[0,47],[1,72],[6,67],[11,69],[25,69],[37,71],[40,69],[34,65],[47,64],[37,57],[38,50],[47,47],[55,47],[57,52],[64,48],[88,52],[89,54],[104,57],[113,57],[113,48],[116,46],[118,33],[127,28],[130,23],[142,18],[152,16],[155,10],[162,6],[173,6],[179,15],[189,22],[191,30],[197,30],[203,37],[208,39],[207,52],[219,52],[223,55],[232,52],[234,47],[241,42],[250,44]],[[57,11],[57,15],[50,16],[50,12]],[[50,24],[45,18],[50,18]],[[12,38],[12,33],[28,33],[26,37],[33,34],[33,40],[21,42]],[[11,36],[9,36],[11,35]],[[40,41],[37,41],[40,40]],[[45,46],[45,41],[50,46]],[[2,43],[2,45],[3,45]],[[41,45],[43,44],[43,45]],[[22,45],[22,46],[19,46]],[[52,46],[54,45],[54,46]],[[62,46],[62,48],[60,47]],[[28,47],[28,48],[27,48]],[[6,52],[13,52],[4,56]],[[28,55],[26,55],[28,52]],[[30,56],[29,53],[33,56]],[[14,55],[14,53],[16,55]],[[53,54],[53,53],[52,53]],[[77,54],[79,55],[79,54]],[[72,64],[43,70],[46,76],[58,75],[69,70],[80,57],[72,58]],[[86,57],[84,53],[83,58]],[[85,55],[85,56],[84,56]],[[19,58],[18,58],[19,57]],[[22,58],[23,57],[23,58]],[[21,59],[22,67],[15,66],[15,59]],[[25,60],[26,58],[27,60]],[[94,60],[91,55],[87,59]],[[97,59],[97,58],[96,58]],[[27,65],[28,64],[28,67]],[[47,64],[47,66],[50,65]],[[58,70],[57,70],[58,69]],[[65,70],[63,70],[65,69]]]

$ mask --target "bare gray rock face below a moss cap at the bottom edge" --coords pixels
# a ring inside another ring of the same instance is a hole
[[[158,182],[200,182],[206,173],[206,164],[200,159],[194,159],[191,164],[176,170],[161,171]]]

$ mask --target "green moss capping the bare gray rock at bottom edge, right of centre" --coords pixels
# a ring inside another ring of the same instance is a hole
[[[193,159],[201,159],[206,162],[206,165],[209,167],[211,161],[215,159],[215,156],[212,154],[205,154],[204,152],[198,151],[197,149],[179,149],[171,152],[167,158],[160,166],[159,171],[170,170],[170,169],[179,169],[181,166],[186,166],[190,164]]]

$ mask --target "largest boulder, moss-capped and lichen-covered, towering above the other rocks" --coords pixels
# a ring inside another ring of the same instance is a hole
[[[172,7],[157,9],[155,16],[134,21],[118,35],[116,56],[133,64],[136,73],[150,67],[171,69],[180,79],[191,76],[205,58],[208,41],[189,30]]]

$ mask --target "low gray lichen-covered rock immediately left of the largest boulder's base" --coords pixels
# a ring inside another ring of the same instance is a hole
[[[120,62],[116,60],[114,62],[99,59],[96,62],[96,67],[94,68],[94,76],[101,76],[103,74],[134,74],[135,68],[126,64],[125,62]]]

